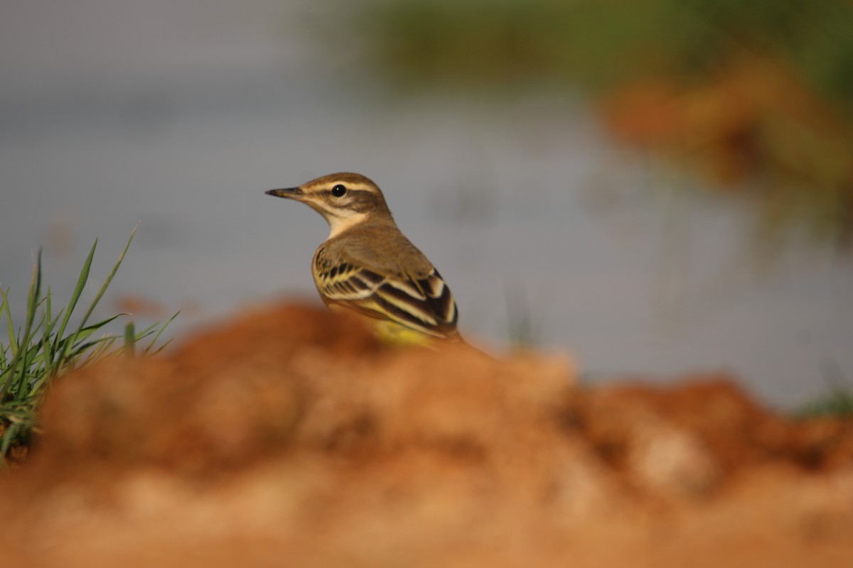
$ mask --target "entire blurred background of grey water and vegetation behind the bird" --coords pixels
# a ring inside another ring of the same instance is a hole
[[[385,190],[461,330],[590,382],[731,370],[791,407],[853,377],[853,5],[4,0],[0,286],[32,255],[181,336],[318,301],[328,232],[264,196]],[[85,300],[85,298],[84,298]]]

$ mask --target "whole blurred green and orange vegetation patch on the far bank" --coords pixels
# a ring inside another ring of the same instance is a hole
[[[345,29],[403,90],[584,93],[618,140],[756,195],[764,237],[805,228],[853,242],[853,3],[365,0],[356,10]]]

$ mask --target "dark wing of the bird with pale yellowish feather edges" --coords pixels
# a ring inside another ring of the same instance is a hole
[[[430,336],[458,336],[456,302],[435,268],[426,278],[382,276],[345,262],[315,268],[317,288],[327,303],[390,319]]]

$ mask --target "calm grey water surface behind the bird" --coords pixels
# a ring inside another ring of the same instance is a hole
[[[775,404],[824,393],[827,369],[853,376],[849,260],[801,245],[762,262],[744,204],[614,146],[583,105],[395,100],[324,65],[281,4],[10,9],[0,283],[13,303],[32,250],[44,245],[61,301],[91,242],[102,278],[137,221],[102,314],[141,295],[189,308],[183,334],[274,298],[316,301],[309,262],[328,229],[264,190],[353,170],[385,190],[450,282],[461,330],[486,344],[523,315],[590,380],[731,370]]]

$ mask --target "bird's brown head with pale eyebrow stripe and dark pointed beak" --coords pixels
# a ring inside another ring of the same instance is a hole
[[[298,187],[270,189],[268,195],[301,201],[323,216],[330,237],[364,221],[392,221],[379,186],[361,174],[330,174]]]

